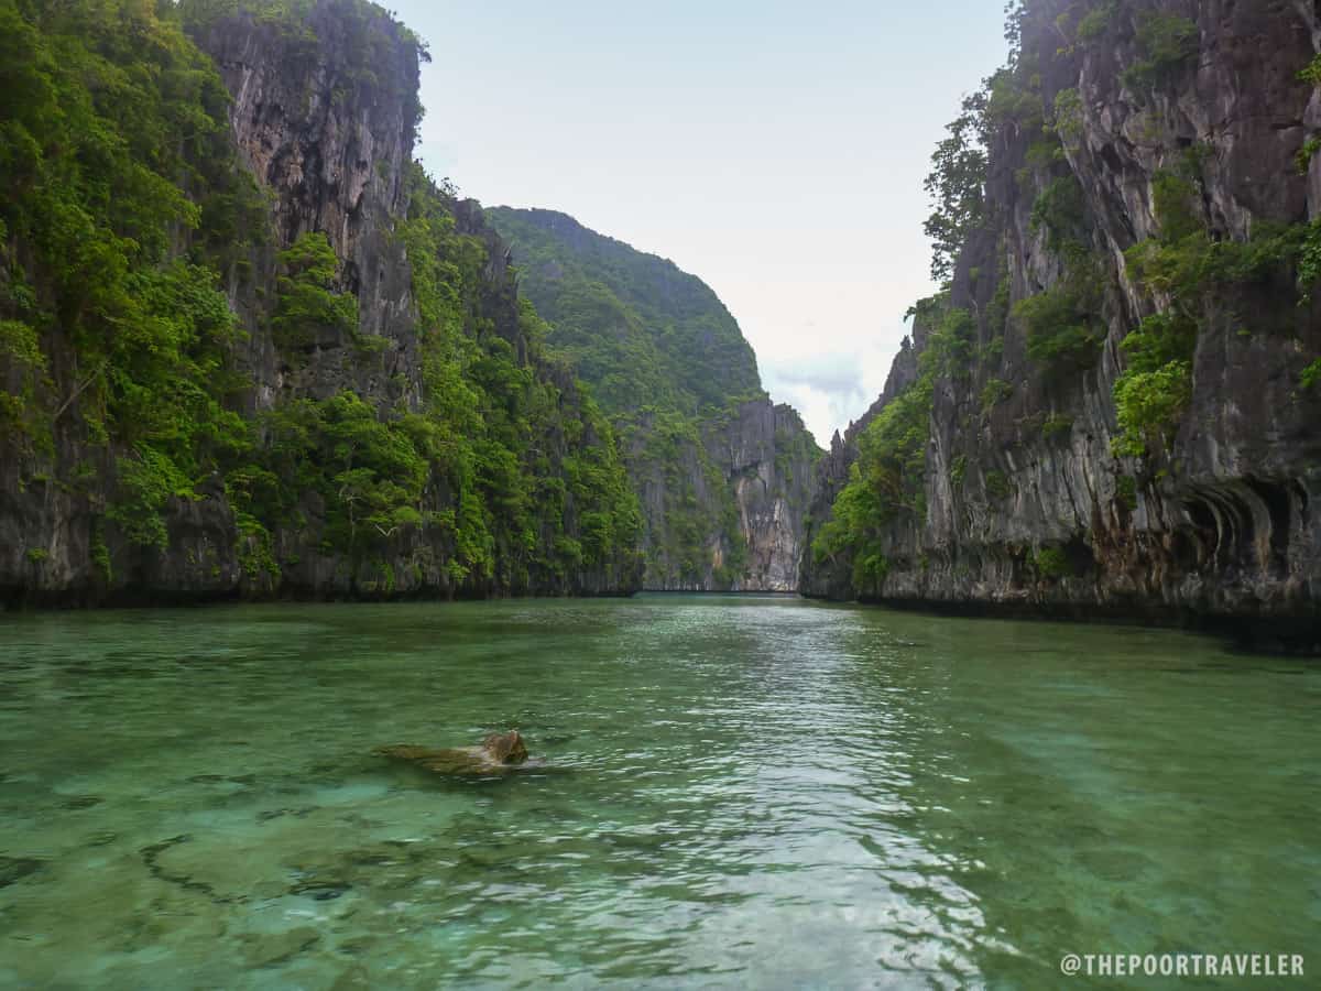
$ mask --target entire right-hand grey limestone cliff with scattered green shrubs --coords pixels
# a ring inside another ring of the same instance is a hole
[[[1297,164],[1321,128],[1299,78],[1318,44],[1314,7],[1285,0],[1028,5],[1030,82],[1008,112],[992,96],[987,217],[941,304],[968,314],[971,358],[933,354],[921,499],[876,530],[871,575],[823,552],[806,591],[1258,617],[1316,643],[1321,311],[1296,283],[1321,215],[1321,160]],[[1034,322],[1032,300],[1069,305]],[[1074,321],[1073,359],[1045,359]],[[1144,354],[1169,378],[1135,379]],[[894,382],[917,375],[905,353]],[[856,433],[823,493],[855,455]]]

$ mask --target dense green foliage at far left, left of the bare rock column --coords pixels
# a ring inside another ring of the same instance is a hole
[[[221,276],[264,230],[229,95],[168,5],[0,0],[0,49],[3,440],[114,452],[111,518],[161,544],[155,510],[250,443]]]

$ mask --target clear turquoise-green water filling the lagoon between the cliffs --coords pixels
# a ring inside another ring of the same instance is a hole
[[[3,616],[0,986],[1321,973],[1318,714],[1181,633],[793,599]],[[542,766],[371,754],[507,727]]]

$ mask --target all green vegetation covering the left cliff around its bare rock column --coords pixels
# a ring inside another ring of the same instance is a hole
[[[312,4],[0,0],[12,497],[38,484],[73,493],[92,560],[71,566],[102,583],[116,555],[169,554],[188,505],[223,498],[250,592],[277,588],[309,534],[337,569],[375,567],[375,591],[392,591],[391,562],[404,559],[413,589],[437,587],[424,571],[449,591],[568,589],[584,571],[629,588],[641,523],[613,428],[546,353],[531,307],[491,284],[494,242],[460,233],[452,193],[419,166],[396,237],[420,314],[420,395],[402,375],[398,398],[316,382],[256,395],[244,322],[289,367],[337,348],[362,363],[391,342],[359,334],[326,234],[304,233],[262,275],[268,202],[239,163],[222,78],[185,32],[240,7],[288,25],[296,48],[316,44],[299,20]],[[374,53],[399,33],[370,4],[339,8],[361,28],[350,42],[363,40],[341,69],[374,86]],[[246,321],[226,292],[242,287],[262,300]]]

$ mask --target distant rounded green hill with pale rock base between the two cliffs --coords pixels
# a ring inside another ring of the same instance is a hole
[[[819,451],[793,410],[765,398],[752,348],[711,287],[561,213],[487,213],[550,344],[625,437],[643,587],[794,591]]]

